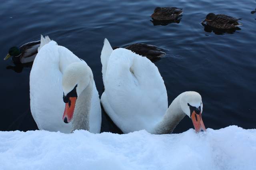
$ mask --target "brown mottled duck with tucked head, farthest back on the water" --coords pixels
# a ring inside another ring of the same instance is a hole
[[[156,7],[150,16],[154,20],[175,20],[182,14],[182,8],[176,7]]]

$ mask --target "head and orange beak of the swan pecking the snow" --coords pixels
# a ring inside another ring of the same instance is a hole
[[[195,91],[186,91],[181,94],[180,106],[182,111],[191,118],[196,132],[206,131],[202,119],[202,97]]]

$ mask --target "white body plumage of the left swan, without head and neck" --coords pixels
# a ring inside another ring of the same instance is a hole
[[[41,38],[42,40],[42,38]],[[71,123],[62,120],[63,102],[62,73],[74,62],[84,62],[67,48],[50,38],[42,40],[30,72],[30,109],[40,130],[69,133]],[[44,44],[45,43],[45,44]],[[90,132],[100,132],[101,108],[96,85],[93,82],[90,108]]]

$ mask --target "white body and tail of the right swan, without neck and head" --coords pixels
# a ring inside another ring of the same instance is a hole
[[[141,129],[151,132],[168,108],[158,68],[128,49],[112,50],[106,39],[101,61],[105,86],[101,102],[106,113],[124,133]]]

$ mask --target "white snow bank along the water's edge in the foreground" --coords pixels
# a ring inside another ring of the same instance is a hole
[[[256,129],[196,134],[0,132],[0,170],[255,170]]]

